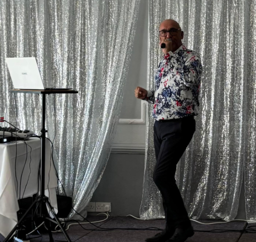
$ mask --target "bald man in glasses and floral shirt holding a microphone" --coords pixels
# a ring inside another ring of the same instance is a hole
[[[182,44],[183,36],[175,20],[166,19],[160,24],[164,56],[155,75],[155,88],[146,90],[138,86],[135,89],[135,97],[154,104],[153,180],[162,195],[166,220],[165,229],[146,242],[184,242],[194,235],[175,172],[195,132],[202,65],[199,55]]]

